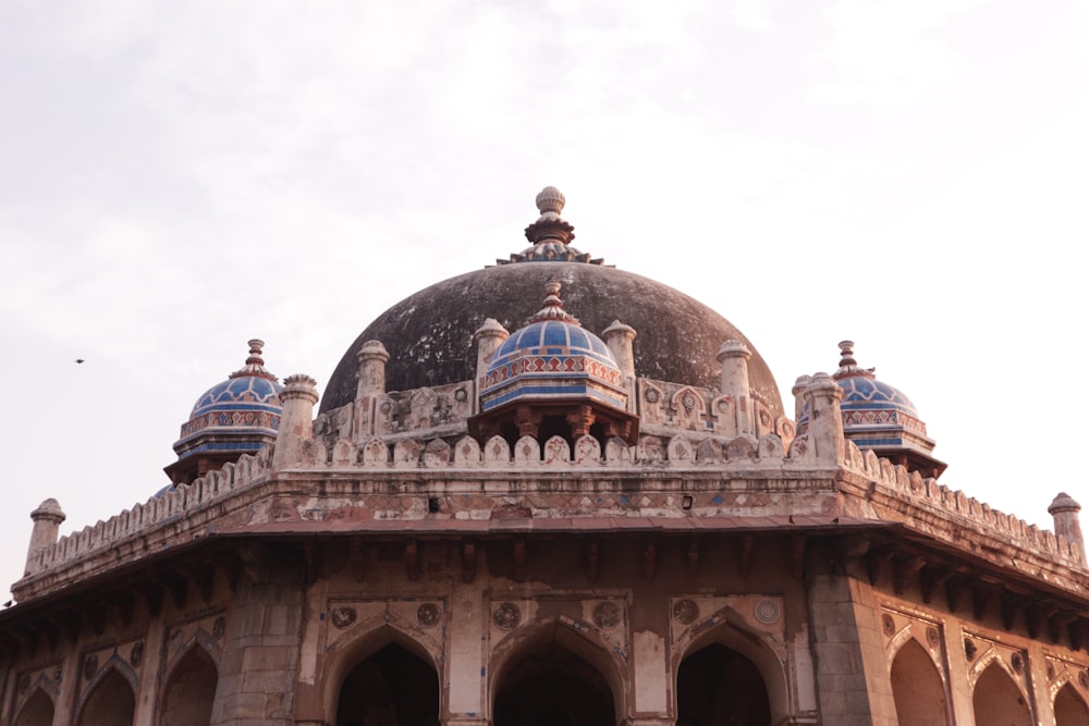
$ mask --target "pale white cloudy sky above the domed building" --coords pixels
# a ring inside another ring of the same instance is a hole
[[[788,410],[852,339],[942,483],[1050,528],[1089,505],[1087,30],[1085,0],[0,3],[0,582],[45,497],[68,532],[161,488],[249,337],[323,386],[523,249],[549,184]]]

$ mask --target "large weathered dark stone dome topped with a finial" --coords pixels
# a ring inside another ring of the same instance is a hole
[[[542,196],[549,189],[542,193]],[[559,193],[554,193],[558,195]],[[525,325],[540,306],[538,291],[548,282],[563,285],[564,307],[588,331],[601,334],[614,320],[635,329],[637,376],[718,389],[721,366],[715,355],[727,340],[752,352],[752,395],[783,415],[779,389],[756,347],[725,318],[660,282],[605,267],[566,243],[574,236],[560,220],[561,205],[542,208],[541,219],[526,230],[534,247],[510,263],[476,270],[427,287],[401,300],[355,339],[333,371],[321,411],[355,399],[359,378],[356,353],[366,341],[381,341],[390,354],[388,391],[407,391],[467,381],[476,374],[474,332],[487,318],[507,330]],[[546,204],[555,204],[548,197]],[[542,205],[538,197],[538,206]],[[562,238],[558,238],[562,237]]]

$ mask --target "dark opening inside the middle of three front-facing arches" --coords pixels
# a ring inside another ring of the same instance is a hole
[[[613,693],[600,670],[555,640],[538,643],[503,668],[494,726],[612,726]]]

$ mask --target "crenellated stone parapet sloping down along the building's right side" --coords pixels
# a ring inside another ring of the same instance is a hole
[[[862,452],[851,441],[844,448],[844,468],[869,480],[867,501],[872,502],[884,495],[914,507],[916,512],[934,513],[966,528],[999,537],[1047,559],[1078,569],[1086,568],[1085,554],[1077,543],[1014,515],[993,509],[963,491],[939,484],[937,479],[923,479],[917,471],[909,472],[904,466],[879,458],[872,451]]]

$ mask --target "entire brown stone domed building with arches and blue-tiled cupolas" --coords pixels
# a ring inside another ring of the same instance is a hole
[[[910,401],[798,379],[571,246],[391,308],[325,387],[259,341],[146,504],[34,512],[16,726],[1089,724],[1078,505],[938,482]],[[543,298],[543,304],[541,299]]]

